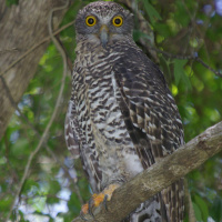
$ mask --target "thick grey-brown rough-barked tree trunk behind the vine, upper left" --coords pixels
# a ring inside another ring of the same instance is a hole
[[[31,47],[49,36],[48,17],[52,8],[64,4],[64,0],[20,0],[19,4],[6,6],[0,0],[0,139],[14,112],[3,81],[10,94],[18,103],[33,78],[39,60],[48,43],[33,50],[9,71],[4,70]],[[65,10],[53,17],[54,29],[58,28]]]

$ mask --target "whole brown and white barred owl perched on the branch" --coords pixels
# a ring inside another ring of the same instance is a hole
[[[183,144],[183,128],[163,73],[132,38],[133,16],[92,2],[75,19],[77,58],[65,141],[82,160],[93,193],[108,196]],[[89,205],[84,205],[87,213]],[[181,222],[182,179],[142,203],[124,222]],[[114,216],[114,215],[113,215]]]

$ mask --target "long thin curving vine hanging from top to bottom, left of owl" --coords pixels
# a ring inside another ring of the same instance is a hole
[[[18,190],[17,190],[17,192],[16,192],[13,202],[12,202],[12,204],[11,204],[11,206],[10,206],[10,210],[9,210],[9,213],[8,213],[8,216],[7,216],[7,221],[10,219],[11,213],[12,213],[12,210],[13,210],[16,203],[17,203],[17,199],[19,198],[19,194],[20,194],[20,192],[21,192],[21,189],[22,189],[22,186],[23,186],[23,183],[24,183],[24,181],[26,181],[26,179],[27,179],[27,175],[28,175],[28,172],[29,172],[31,162],[32,162],[34,155],[39,152],[40,148],[42,147],[42,144],[46,142],[46,140],[47,140],[47,138],[48,138],[50,127],[51,127],[52,122],[54,121],[54,118],[56,118],[56,115],[57,115],[57,113],[58,113],[58,110],[59,110],[59,107],[60,107],[60,102],[61,102],[61,99],[62,99],[62,92],[63,92],[63,88],[64,88],[64,80],[65,80],[65,77],[67,77],[67,57],[65,57],[64,51],[62,50],[62,48],[61,48],[60,44],[58,43],[57,39],[56,39],[56,38],[53,37],[53,34],[52,34],[52,27],[51,27],[52,24],[51,24],[51,22],[52,22],[52,14],[53,14],[53,12],[57,11],[57,10],[63,10],[63,9],[65,9],[68,6],[69,6],[69,0],[65,2],[64,6],[52,9],[52,10],[50,11],[50,16],[49,16],[49,20],[48,20],[48,22],[49,22],[49,33],[50,33],[50,37],[51,37],[52,41],[54,42],[57,49],[59,50],[59,52],[61,53],[62,59],[63,59],[63,74],[62,74],[62,80],[61,80],[61,87],[60,87],[59,95],[58,95],[58,99],[57,99],[57,103],[56,103],[56,107],[54,107],[54,111],[53,111],[53,113],[52,113],[52,115],[51,115],[51,119],[50,119],[49,123],[47,124],[47,128],[46,128],[46,130],[44,130],[44,132],[43,132],[43,134],[42,134],[42,137],[41,137],[41,139],[40,139],[40,141],[39,141],[39,144],[38,144],[37,148],[34,149],[34,151],[31,152],[31,154],[30,154],[30,157],[29,157],[29,159],[28,159],[28,163],[27,163],[27,167],[26,167],[26,169],[24,169],[24,173],[23,173],[22,179],[21,179],[21,181],[20,181],[20,183],[19,183],[19,188],[18,188]]]

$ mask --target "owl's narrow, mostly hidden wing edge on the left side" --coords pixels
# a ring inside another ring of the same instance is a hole
[[[77,117],[74,100],[71,98],[64,121],[64,139],[68,150],[75,159],[80,155],[80,130]]]

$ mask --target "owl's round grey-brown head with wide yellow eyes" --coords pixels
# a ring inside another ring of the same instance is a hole
[[[132,36],[133,19],[130,11],[112,1],[97,1],[79,11],[75,19],[77,41],[98,41],[103,48],[112,39]]]

